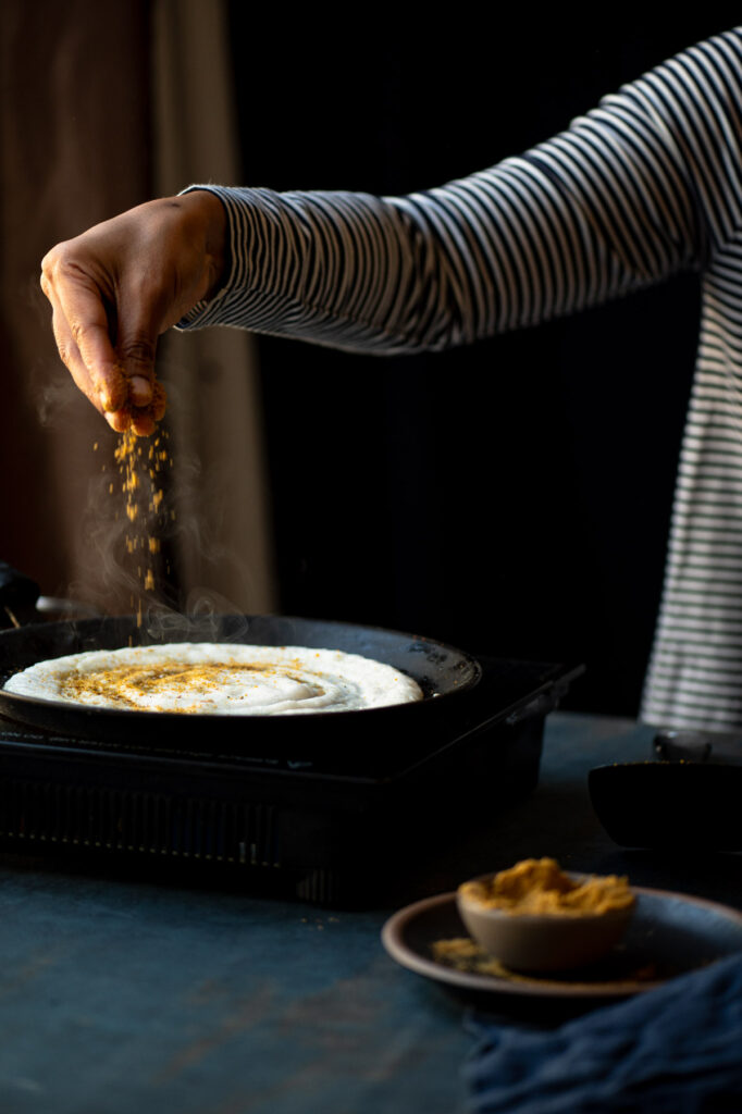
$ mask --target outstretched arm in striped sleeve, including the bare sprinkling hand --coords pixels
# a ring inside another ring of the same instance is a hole
[[[427,193],[194,187],[141,206],[47,256],[62,359],[114,428],[147,432],[156,339],[178,321],[414,352],[700,268],[739,219],[741,72],[739,29]]]

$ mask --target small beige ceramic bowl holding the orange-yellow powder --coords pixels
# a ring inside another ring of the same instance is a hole
[[[460,891],[456,900],[475,941],[515,971],[570,970],[597,962],[621,942],[634,911],[628,906],[596,913],[521,913],[487,908]]]

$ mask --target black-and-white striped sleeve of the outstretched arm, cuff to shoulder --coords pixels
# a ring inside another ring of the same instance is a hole
[[[222,197],[232,267],[180,324],[397,354],[701,268],[739,215],[740,61],[726,32],[525,155],[404,197],[192,187]]]

